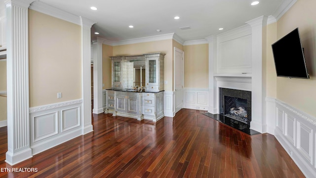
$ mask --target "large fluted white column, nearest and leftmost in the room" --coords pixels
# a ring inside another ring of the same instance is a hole
[[[15,165],[32,157],[29,115],[28,7],[34,0],[7,0],[7,140],[5,162]]]

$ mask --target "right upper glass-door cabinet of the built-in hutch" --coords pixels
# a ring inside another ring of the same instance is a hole
[[[146,91],[163,90],[163,59],[161,52],[144,54],[146,58]]]

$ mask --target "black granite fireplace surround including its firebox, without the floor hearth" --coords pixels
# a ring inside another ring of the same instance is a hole
[[[251,91],[219,88],[220,115],[247,124],[251,122]]]

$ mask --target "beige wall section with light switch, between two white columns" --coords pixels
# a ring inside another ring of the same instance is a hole
[[[80,32],[79,25],[29,10],[30,107],[81,98]]]

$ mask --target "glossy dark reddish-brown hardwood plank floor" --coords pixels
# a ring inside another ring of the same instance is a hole
[[[4,162],[6,127],[0,128],[0,178],[304,177],[273,135],[250,136],[201,113],[182,109],[157,123],[93,114],[93,133],[14,166]]]

